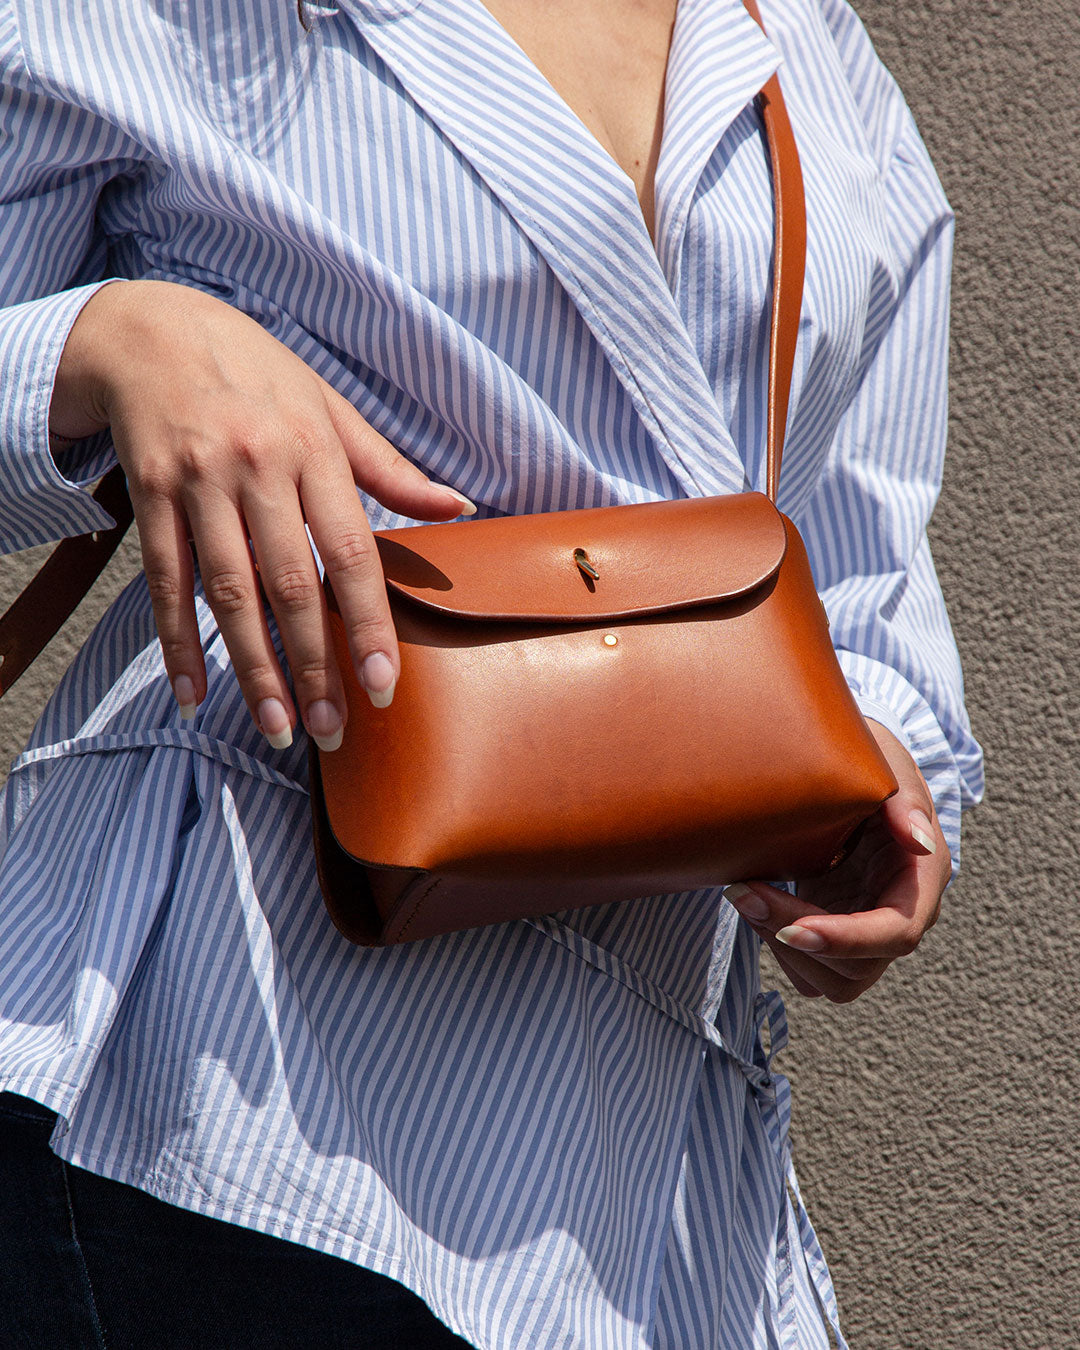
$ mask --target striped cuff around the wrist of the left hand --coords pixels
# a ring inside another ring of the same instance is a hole
[[[63,344],[86,301],[119,277],[0,310],[0,552],[109,529],[89,486],[115,462],[108,433],[62,455],[49,448],[49,408]]]

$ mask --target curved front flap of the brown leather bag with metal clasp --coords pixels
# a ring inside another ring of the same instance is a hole
[[[387,590],[428,609],[580,624],[745,595],[779,570],[787,532],[768,497],[736,493],[416,525],[375,541]]]

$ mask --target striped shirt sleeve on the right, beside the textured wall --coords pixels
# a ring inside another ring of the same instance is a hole
[[[850,9],[826,0],[882,155],[887,279],[825,471],[796,524],[833,644],[865,717],[911,752],[960,867],[960,817],[983,798],[983,751],[926,528],[948,421],[953,213],[907,105]]]

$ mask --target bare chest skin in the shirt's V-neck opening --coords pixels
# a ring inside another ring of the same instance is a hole
[[[633,180],[649,235],[675,3],[485,0],[548,84]]]

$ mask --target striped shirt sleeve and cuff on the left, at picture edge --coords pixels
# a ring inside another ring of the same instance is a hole
[[[115,463],[107,433],[49,448],[63,344],[105,275],[103,186],[140,162],[135,143],[45,93],[0,7],[0,554],[113,524],[89,487]]]

